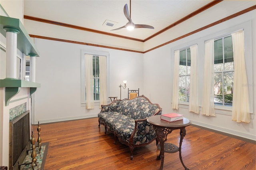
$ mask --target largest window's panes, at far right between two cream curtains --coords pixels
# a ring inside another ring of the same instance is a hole
[[[232,36],[214,40],[214,104],[232,106],[234,59]]]

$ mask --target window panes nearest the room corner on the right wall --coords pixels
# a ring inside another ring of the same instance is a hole
[[[180,50],[179,101],[189,102],[190,65],[190,48]]]

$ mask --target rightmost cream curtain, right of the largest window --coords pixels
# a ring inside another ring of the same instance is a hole
[[[249,94],[244,61],[244,31],[232,34],[234,57],[234,89],[232,120],[237,123],[250,123]]]

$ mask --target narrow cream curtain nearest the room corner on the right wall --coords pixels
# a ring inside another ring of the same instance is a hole
[[[179,66],[180,50],[174,51],[174,71],[172,87],[172,109],[179,109]]]

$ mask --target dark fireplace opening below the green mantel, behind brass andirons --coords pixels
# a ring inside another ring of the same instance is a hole
[[[9,169],[17,170],[30,148],[30,114],[29,111],[9,123]]]

